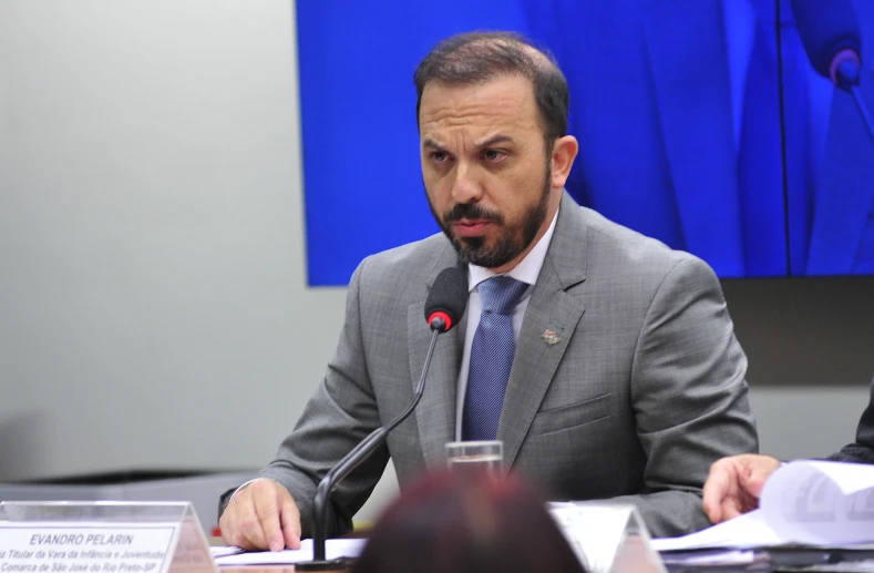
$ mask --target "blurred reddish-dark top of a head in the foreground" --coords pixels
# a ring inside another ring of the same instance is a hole
[[[544,501],[518,479],[440,472],[382,514],[352,573],[585,573]]]

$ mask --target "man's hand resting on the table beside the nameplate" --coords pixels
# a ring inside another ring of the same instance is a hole
[[[218,520],[225,543],[245,550],[300,548],[300,512],[284,485],[257,479],[237,491]]]

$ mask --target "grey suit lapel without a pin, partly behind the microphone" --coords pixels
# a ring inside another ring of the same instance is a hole
[[[428,278],[429,290],[436,275],[445,267],[456,264],[455,253],[449,243],[434,262]],[[424,317],[424,300],[410,305],[407,309],[408,354],[412,388],[419,385],[428,346],[431,344],[431,329]],[[415,409],[419,440],[426,465],[434,468],[445,463],[445,444],[455,440],[455,396],[459,379],[461,349],[460,328],[440,335],[434,356],[425,379],[422,401]]]

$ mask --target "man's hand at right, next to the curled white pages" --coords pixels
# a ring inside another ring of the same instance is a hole
[[[779,467],[780,460],[753,453],[722,458],[713,463],[705,482],[707,516],[719,523],[758,508],[764,482]]]

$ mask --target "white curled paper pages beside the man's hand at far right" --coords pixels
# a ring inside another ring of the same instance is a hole
[[[760,509],[681,538],[654,540],[658,551],[874,543],[874,465],[795,461],[764,485]]]

